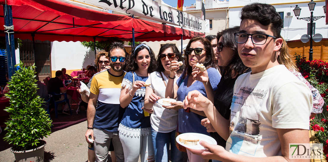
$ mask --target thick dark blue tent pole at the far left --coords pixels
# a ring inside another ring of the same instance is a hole
[[[11,6],[3,5],[4,11],[4,21],[5,26],[11,27],[12,23],[12,10]],[[8,69],[8,76],[11,79],[12,75],[14,74],[14,65],[16,64],[16,57],[15,57],[15,41],[14,41],[14,34],[10,33],[13,32],[12,29],[8,30],[9,33],[5,33],[6,35],[6,49],[7,49],[7,69]]]

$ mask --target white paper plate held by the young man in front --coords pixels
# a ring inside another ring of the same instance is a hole
[[[203,134],[200,134],[200,133],[183,133],[183,134],[180,134],[180,135],[184,135],[184,136],[189,136],[189,135],[193,135],[195,137],[197,137],[199,139],[199,141],[206,141],[207,143],[209,144],[212,144],[212,145],[217,145],[216,141],[214,138],[208,136],[208,135],[203,135]],[[186,148],[189,148],[189,149],[195,149],[195,150],[205,150],[205,148],[203,146],[201,146],[199,144],[199,141],[197,142],[197,145],[195,146],[189,146],[189,145],[185,145],[184,143],[181,143],[179,141],[179,138],[180,138],[180,135],[178,135],[175,140],[178,144],[186,147]]]

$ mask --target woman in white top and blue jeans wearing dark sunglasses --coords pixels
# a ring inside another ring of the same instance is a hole
[[[166,84],[169,80],[171,61],[183,61],[182,55],[174,44],[165,44],[159,49],[157,57],[157,69],[150,74],[146,83],[151,83],[146,87],[145,107],[153,109],[150,117],[152,125],[152,137],[156,162],[168,162],[171,144],[172,162],[182,162],[183,152],[175,147],[175,129],[178,120],[178,111],[165,109],[156,103],[158,99],[165,98]],[[175,81],[183,71],[183,65],[175,75]],[[174,103],[172,103],[174,104]]]

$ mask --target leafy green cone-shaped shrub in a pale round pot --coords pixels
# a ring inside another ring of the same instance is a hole
[[[8,133],[4,140],[14,146],[10,149],[18,162],[44,161],[46,141],[40,140],[51,133],[51,119],[41,107],[44,102],[36,94],[35,66],[20,66],[9,82],[10,106],[5,111],[11,113],[5,123]],[[36,153],[36,154],[35,154]]]

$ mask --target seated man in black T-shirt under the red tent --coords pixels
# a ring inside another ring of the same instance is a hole
[[[66,69],[65,69],[66,71]],[[52,92],[55,92],[55,93],[65,93],[67,91],[67,89],[72,86],[72,83],[69,83],[67,85],[66,88],[64,88],[64,85],[63,85],[63,81],[61,81],[63,79],[63,72],[58,70],[56,71],[56,77],[54,78],[51,78],[49,81],[48,81],[48,91],[52,91]],[[72,96],[70,95],[67,95],[67,98],[69,99],[69,102],[71,103],[72,102]],[[53,99],[55,101],[61,101],[61,100],[64,100],[65,99],[65,96],[64,95],[56,95],[56,96],[53,96]],[[67,103],[65,104],[65,107],[63,109],[63,114],[67,114],[67,115],[71,115],[71,113],[69,112],[69,107],[68,107],[68,104],[70,103]],[[58,110],[61,110],[61,107],[58,107]]]

